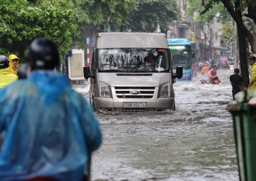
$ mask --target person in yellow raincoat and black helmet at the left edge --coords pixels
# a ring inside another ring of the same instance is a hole
[[[11,73],[9,60],[6,56],[0,55],[0,90],[16,81],[18,76]]]

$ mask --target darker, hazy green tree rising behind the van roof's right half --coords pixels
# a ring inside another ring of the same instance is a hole
[[[154,32],[159,25],[168,29],[170,22],[180,18],[180,8],[175,0],[134,0],[138,10],[132,11],[128,29],[137,32]]]

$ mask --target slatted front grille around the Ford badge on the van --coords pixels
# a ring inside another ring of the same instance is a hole
[[[130,91],[138,91],[138,93],[130,93]],[[154,96],[155,87],[115,87],[116,97],[124,98],[152,98]]]

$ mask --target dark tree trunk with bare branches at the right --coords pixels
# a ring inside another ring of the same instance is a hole
[[[203,1],[203,0],[202,0]],[[245,86],[249,85],[249,74],[248,74],[248,64],[247,64],[247,55],[246,55],[246,39],[249,41],[251,45],[252,52],[256,53],[256,40],[253,34],[246,28],[242,17],[246,16],[251,18],[254,23],[256,23],[256,1],[255,0],[209,0],[209,2],[204,6],[205,10],[202,12],[204,14],[216,4],[222,2],[238,27],[238,42],[239,42],[239,54],[240,54],[240,66],[241,73],[244,79]],[[242,12],[246,12],[246,14],[242,14]]]

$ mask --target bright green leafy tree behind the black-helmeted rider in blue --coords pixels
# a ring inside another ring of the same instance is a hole
[[[0,54],[21,60],[35,38],[52,40],[61,54],[70,49],[74,12],[65,0],[1,0]]]

